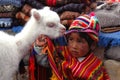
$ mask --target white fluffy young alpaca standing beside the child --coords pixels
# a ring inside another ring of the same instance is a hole
[[[32,9],[31,17],[22,31],[15,36],[0,32],[0,80],[13,80],[21,59],[40,34],[50,38],[63,35],[65,27],[56,12],[48,7]]]

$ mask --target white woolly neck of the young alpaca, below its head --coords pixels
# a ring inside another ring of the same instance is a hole
[[[22,29],[22,31],[16,34],[15,36],[16,44],[18,46],[18,50],[23,55],[28,53],[28,50],[30,49],[31,44],[35,41],[35,39],[40,34],[40,32],[38,33],[37,31],[37,27],[38,27],[37,22],[34,19],[30,19],[30,21],[27,22],[27,24]]]

